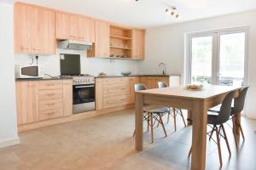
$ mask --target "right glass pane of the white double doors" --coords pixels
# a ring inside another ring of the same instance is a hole
[[[243,85],[245,36],[245,32],[220,36],[219,84]]]

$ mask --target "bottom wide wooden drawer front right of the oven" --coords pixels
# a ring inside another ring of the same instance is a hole
[[[111,96],[103,99],[103,108],[130,104],[130,95]]]

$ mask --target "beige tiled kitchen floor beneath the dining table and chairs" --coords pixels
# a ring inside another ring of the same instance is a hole
[[[68,122],[20,133],[20,144],[0,150],[0,169],[189,169],[191,127],[177,122],[166,124],[168,137],[160,127],[154,129],[154,144],[145,133],[143,152],[134,150],[131,137],[134,111],[118,111],[77,122]],[[222,169],[256,169],[256,121],[242,119],[246,140],[236,150],[230,128],[226,126],[232,156],[222,140]],[[219,169],[218,150],[207,142],[207,169]]]

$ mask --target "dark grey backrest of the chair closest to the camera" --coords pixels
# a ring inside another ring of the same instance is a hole
[[[235,91],[232,91],[229,94],[227,94],[226,97],[224,98],[222,105],[220,107],[220,110],[219,110],[219,114],[218,114],[216,123],[221,124],[221,123],[227,122],[229,120],[234,94],[235,94]]]

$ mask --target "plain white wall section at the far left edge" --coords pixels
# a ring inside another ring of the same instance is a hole
[[[0,148],[17,144],[13,5],[0,3]]]

